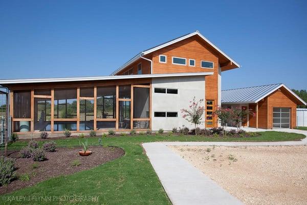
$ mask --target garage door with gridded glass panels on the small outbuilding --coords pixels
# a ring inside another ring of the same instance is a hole
[[[290,108],[273,108],[273,128],[290,128]]]

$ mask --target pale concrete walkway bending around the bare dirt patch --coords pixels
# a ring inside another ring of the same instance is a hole
[[[261,129],[243,128],[246,131],[268,131]],[[280,132],[294,132],[307,136],[307,131],[280,129]],[[193,167],[188,161],[172,152],[167,146],[191,145],[191,146],[295,146],[306,145],[307,137],[301,141],[281,142],[149,142],[143,147],[155,169],[164,190],[174,205],[181,204],[243,204],[230,195],[216,182],[207,177],[200,170]]]

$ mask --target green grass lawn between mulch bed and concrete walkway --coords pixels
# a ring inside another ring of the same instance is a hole
[[[102,138],[104,146],[125,150],[125,156],[96,168],[72,175],[59,176],[0,197],[0,204],[170,204],[163,187],[140,146],[152,141],[279,141],[299,140],[304,135],[267,131],[257,137],[204,137],[204,136],[121,136]],[[98,137],[87,138],[98,145]],[[82,140],[82,139],[81,139]],[[83,139],[84,140],[84,139]],[[47,141],[47,140],[46,140]],[[56,140],[58,146],[78,146],[79,138]],[[20,149],[27,142],[17,141],[10,149]],[[59,170],[60,172],[60,170]],[[56,196],[82,195],[99,197],[99,201],[59,201]],[[26,201],[7,201],[8,197],[26,196]],[[29,200],[30,196],[30,200]],[[38,197],[45,200],[38,200]],[[36,197],[36,198],[35,198]],[[51,198],[48,198],[51,197]]]

